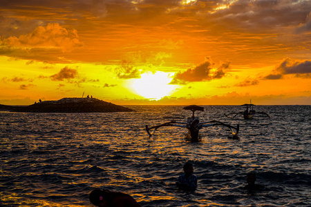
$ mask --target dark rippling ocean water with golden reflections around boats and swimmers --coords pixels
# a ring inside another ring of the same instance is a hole
[[[144,126],[185,121],[182,106],[128,106],[136,112],[0,112],[0,206],[91,206],[94,188],[121,191],[141,206],[311,206],[311,106],[256,106],[272,117],[228,119],[240,106],[205,106],[200,121],[240,124],[200,130]],[[178,191],[186,161],[198,189]],[[248,193],[247,172],[266,190]]]

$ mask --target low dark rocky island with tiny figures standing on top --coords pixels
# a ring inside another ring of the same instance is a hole
[[[58,101],[39,101],[30,106],[6,106],[0,110],[11,112],[133,112],[131,108],[95,98],[63,98]]]

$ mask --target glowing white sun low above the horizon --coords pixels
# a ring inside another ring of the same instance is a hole
[[[176,89],[176,86],[169,84],[172,76],[173,72],[146,72],[140,79],[133,80],[130,87],[136,94],[146,99],[159,100]]]

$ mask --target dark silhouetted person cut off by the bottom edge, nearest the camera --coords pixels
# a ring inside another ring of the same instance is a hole
[[[92,190],[89,199],[94,206],[100,207],[140,207],[130,195],[101,188]]]

